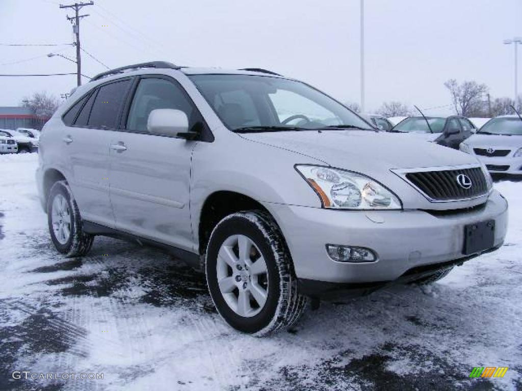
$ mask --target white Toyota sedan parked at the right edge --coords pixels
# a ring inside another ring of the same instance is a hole
[[[460,150],[476,155],[492,174],[522,175],[522,120],[517,115],[493,118]]]

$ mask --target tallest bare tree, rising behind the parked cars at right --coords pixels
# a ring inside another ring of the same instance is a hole
[[[483,95],[489,91],[485,84],[476,81],[464,81],[458,83],[455,79],[449,79],[444,83],[452,95],[455,111],[465,117],[480,117],[484,115],[485,103]]]

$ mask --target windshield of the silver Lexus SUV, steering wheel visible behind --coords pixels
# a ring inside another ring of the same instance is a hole
[[[189,78],[232,131],[325,127],[375,130],[345,106],[299,81],[252,75],[191,75]]]

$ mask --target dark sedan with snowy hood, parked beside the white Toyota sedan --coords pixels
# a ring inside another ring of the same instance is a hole
[[[458,149],[460,143],[470,137],[474,131],[476,127],[470,120],[459,116],[408,117],[392,129],[392,132],[409,133],[411,137],[436,142],[453,149]]]

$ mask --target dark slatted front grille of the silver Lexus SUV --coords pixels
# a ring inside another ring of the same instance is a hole
[[[461,174],[471,179],[469,189],[459,185],[457,177]],[[488,184],[480,167],[408,173],[406,179],[433,201],[473,198],[488,192]]]

